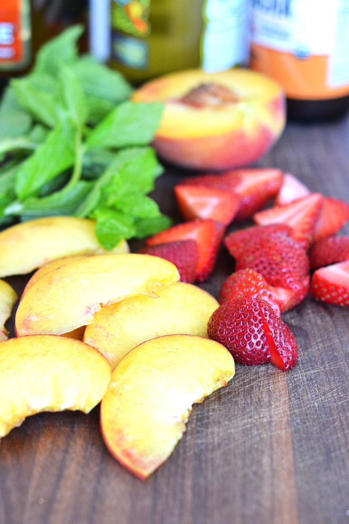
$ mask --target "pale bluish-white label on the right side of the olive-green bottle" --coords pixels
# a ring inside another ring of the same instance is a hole
[[[246,0],[206,0],[202,8],[201,67],[209,73],[246,62]]]

